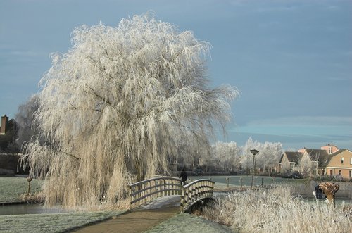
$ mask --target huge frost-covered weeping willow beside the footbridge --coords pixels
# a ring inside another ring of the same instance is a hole
[[[47,143],[27,146],[30,175],[46,177],[46,203],[94,205],[127,195],[167,170],[182,139],[204,139],[231,118],[230,86],[208,87],[210,44],[153,15],[77,27],[52,55],[35,123]]]

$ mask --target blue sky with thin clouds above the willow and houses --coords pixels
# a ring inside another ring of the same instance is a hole
[[[75,27],[147,11],[210,42],[211,85],[241,91],[222,141],[352,149],[352,1],[0,0],[0,114],[38,91]]]

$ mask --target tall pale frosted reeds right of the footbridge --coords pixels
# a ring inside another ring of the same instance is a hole
[[[239,232],[352,232],[351,206],[309,203],[286,185],[220,196],[203,216]]]

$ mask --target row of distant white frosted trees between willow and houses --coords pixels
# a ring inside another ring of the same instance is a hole
[[[180,153],[177,156],[177,163],[186,165],[189,170],[202,168],[206,172],[251,171],[253,166],[251,149],[259,151],[255,158],[256,170],[263,173],[277,172],[279,159],[282,156],[281,143],[268,141],[260,143],[251,138],[246,141],[244,146],[239,146],[234,141],[218,141],[211,145],[208,151],[202,151],[198,147],[193,148],[193,151]]]

